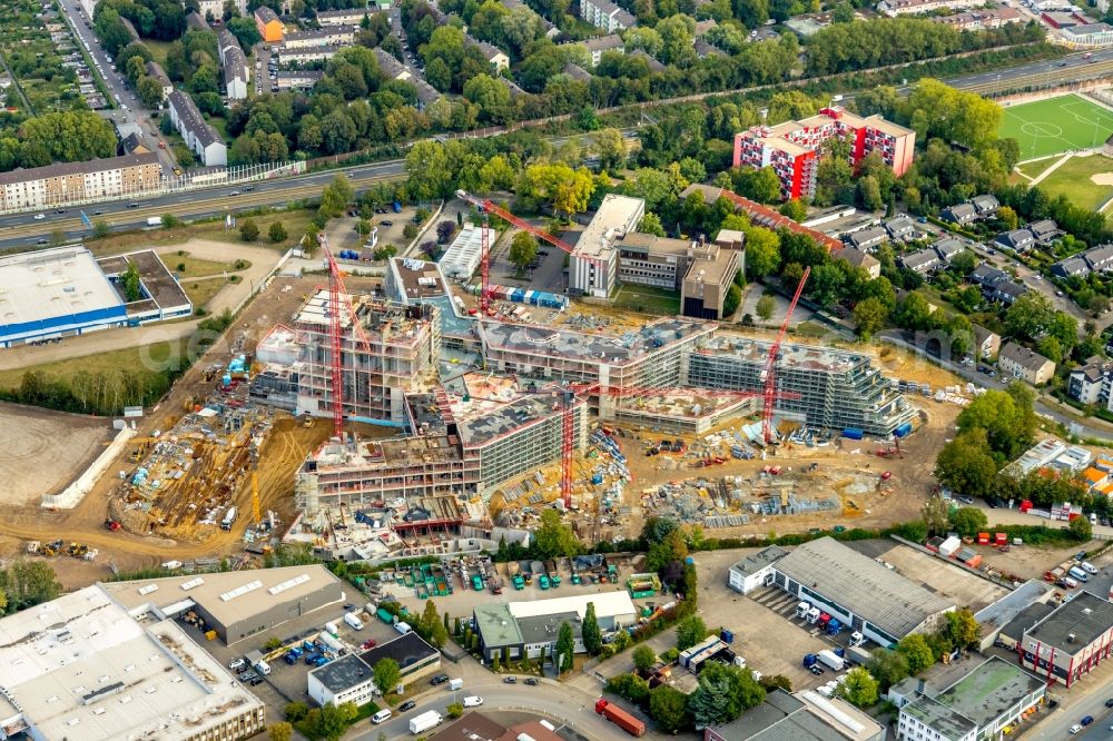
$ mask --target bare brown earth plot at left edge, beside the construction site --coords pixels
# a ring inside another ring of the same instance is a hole
[[[100,455],[105,419],[0,403],[0,504],[38,503]]]

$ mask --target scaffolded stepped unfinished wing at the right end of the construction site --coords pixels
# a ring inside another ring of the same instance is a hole
[[[770,343],[720,335],[687,356],[683,384],[761,392]],[[892,388],[868,355],[807,345],[782,345],[777,362],[776,408],[814,427],[861,429],[887,437],[916,409]],[[790,398],[788,393],[799,394]]]

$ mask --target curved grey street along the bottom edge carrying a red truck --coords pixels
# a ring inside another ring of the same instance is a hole
[[[484,673],[486,673],[485,670]],[[483,698],[483,705],[476,710],[484,714],[492,714],[495,719],[498,719],[500,711],[525,711],[534,717],[548,718],[554,724],[574,730],[575,733],[587,739],[617,740],[628,738],[624,731],[595,714],[594,702],[598,699],[595,695],[568,684],[558,684],[550,680],[541,680],[540,686],[526,686],[521,682],[503,684],[493,674],[486,674],[485,679],[476,679],[474,682],[465,680],[464,686],[465,689],[455,693],[447,690],[427,692],[417,700],[417,707],[413,710],[395,713],[390,721],[380,725],[371,725],[365,733],[349,737],[349,739],[352,741],[375,741],[380,733],[385,733],[387,739],[411,738],[413,734],[410,733],[410,719],[426,710],[435,710],[444,715],[445,721],[441,724],[443,729],[452,722],[447,719],[447,705],[453,702],[454,696],[456,702],[461,702],[466,695]],[[647,735],[656,734],[649,731]],[[569,734],[569,738],[574,737]]]

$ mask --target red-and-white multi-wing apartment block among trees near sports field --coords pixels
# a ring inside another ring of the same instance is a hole
[[[850,142],[850,164],[877,152],[902,176],[912,165],[916,132],[880,116],[861,118],[840,108],[824,108],[801,121],[756,126],[735,135],[735,167],[771,167],[785,198],[810,198],[816,190],[820,149],[833,138]]]

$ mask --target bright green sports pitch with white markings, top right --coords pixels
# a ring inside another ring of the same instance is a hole
[[[1021,144],[1021,159],[1101,146],[1113,134],[1113,111],[1075,95],[1005,108],[997,135]]]

